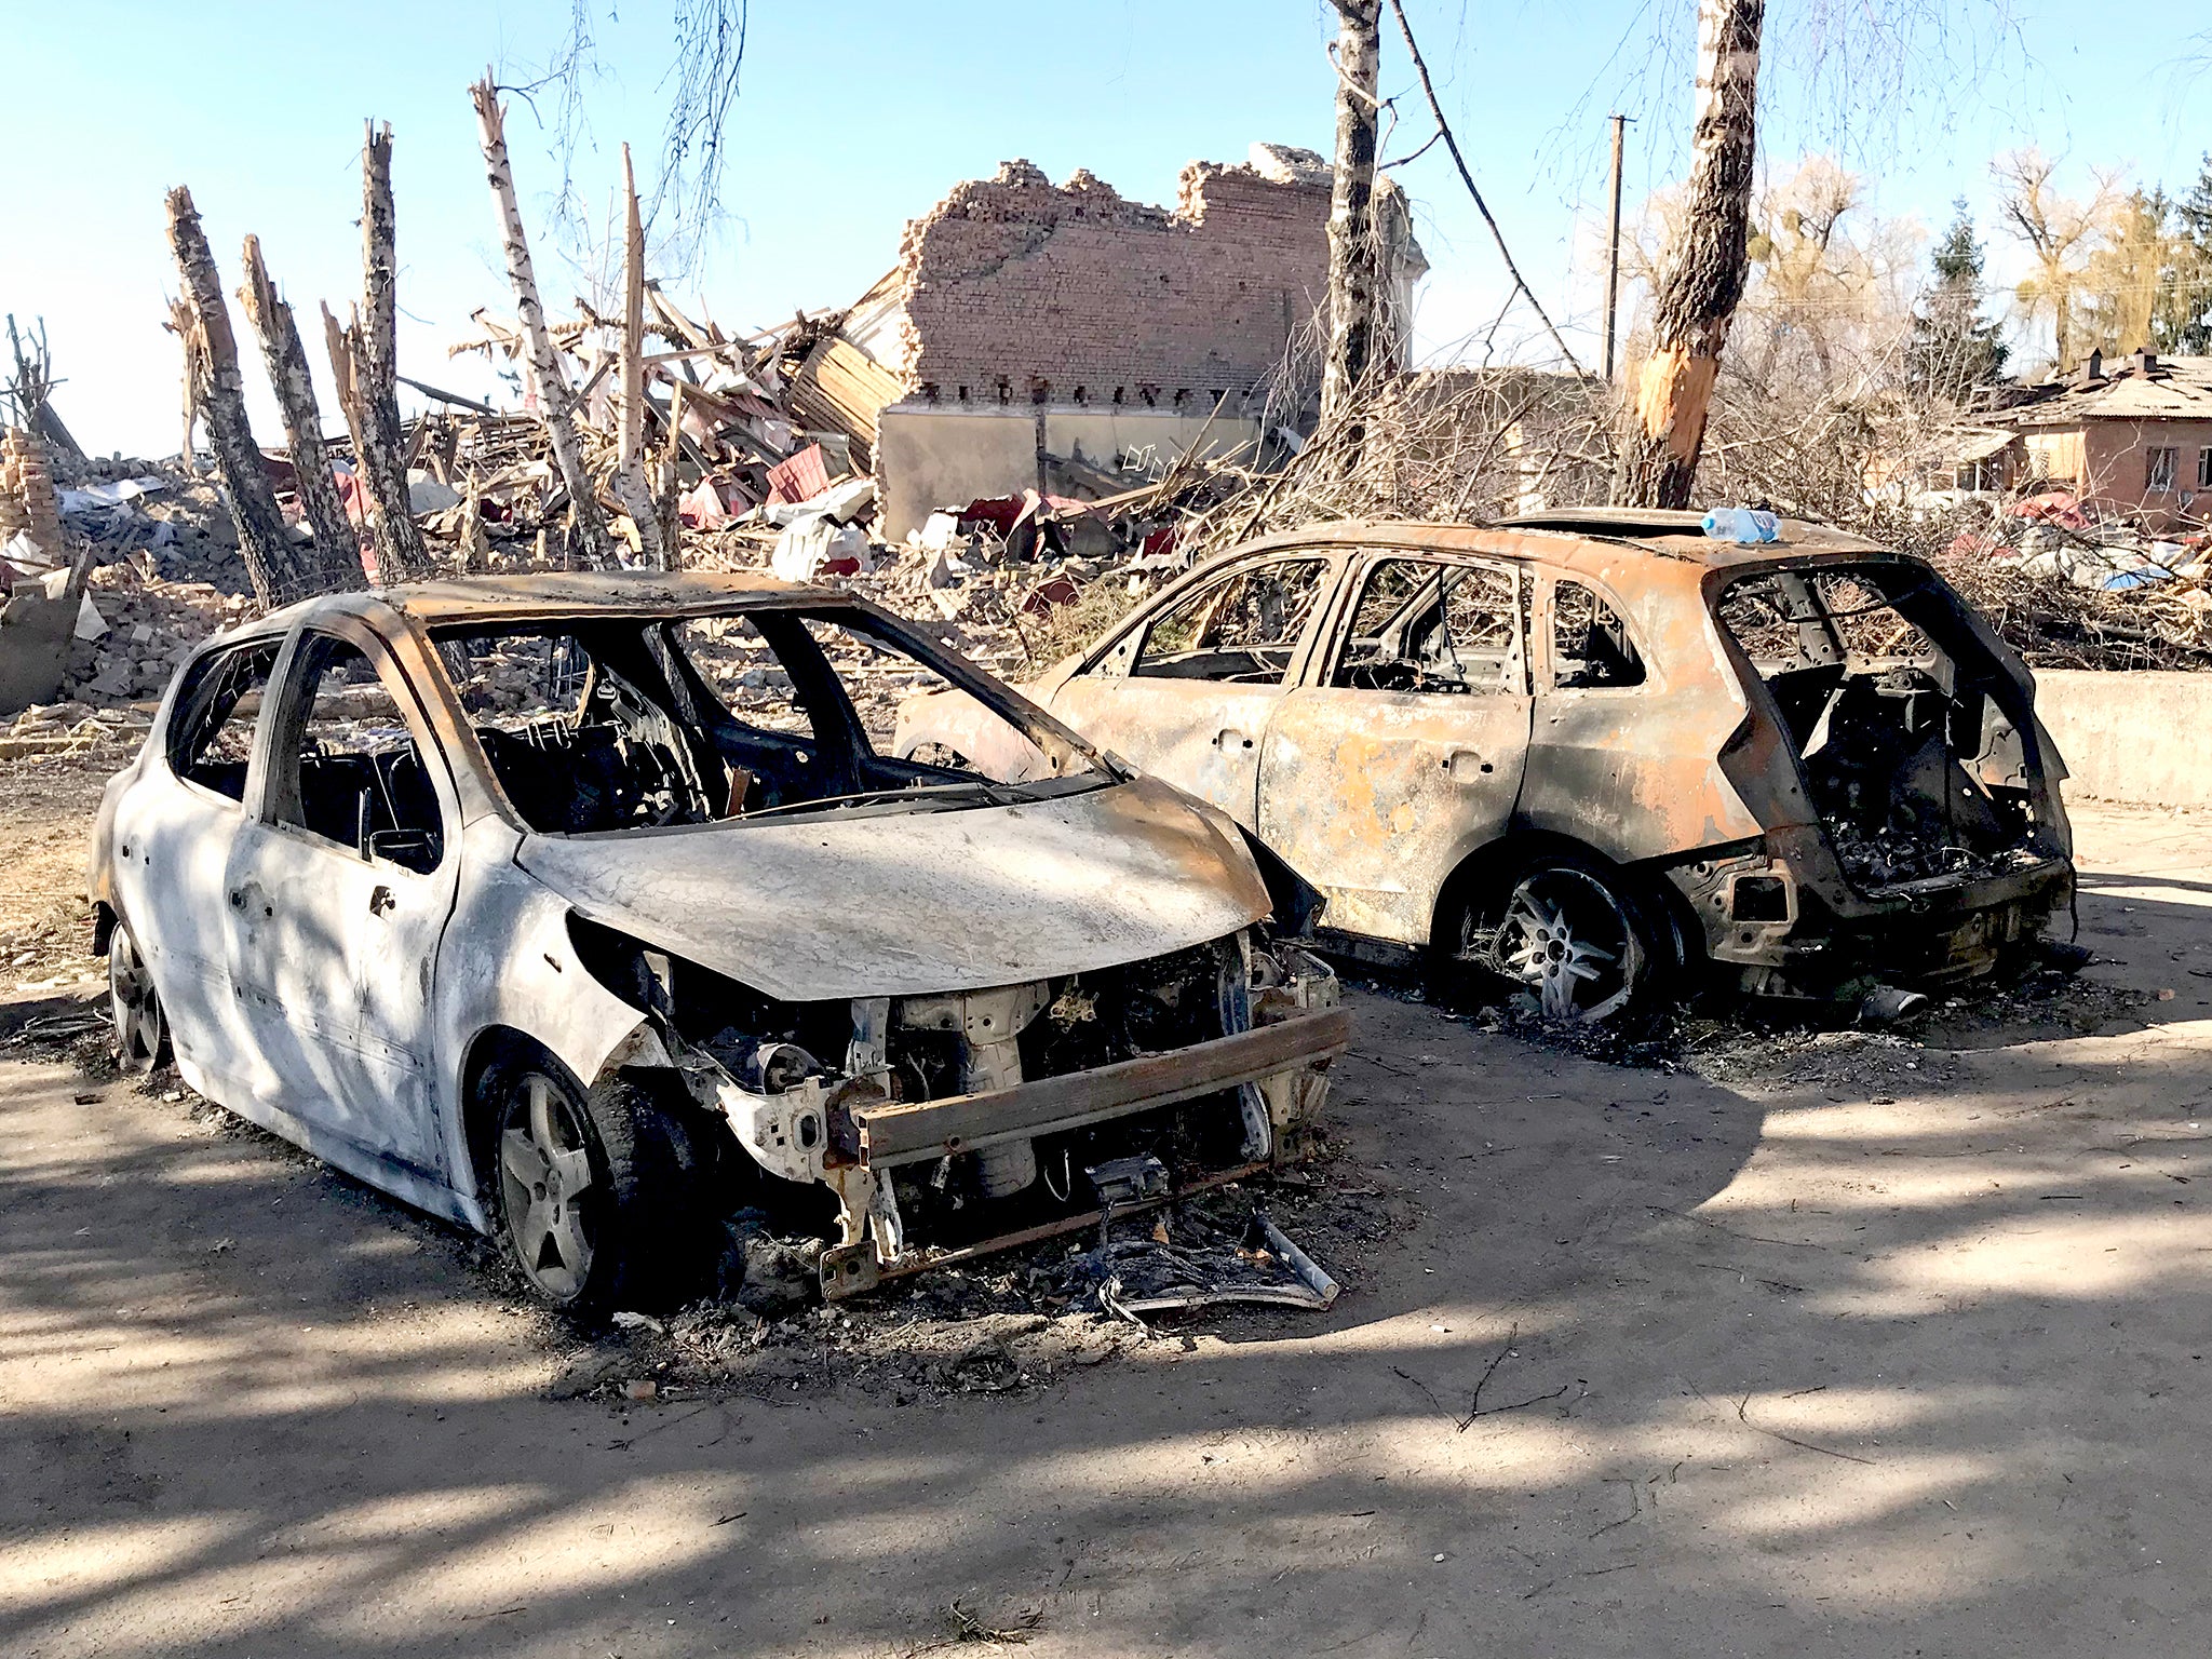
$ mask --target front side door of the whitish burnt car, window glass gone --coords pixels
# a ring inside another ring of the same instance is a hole
[[[223,911],[261,1097],[376,1159],[442,1175],[431,993],[458,889],[458,807],[374,633],[352,619],[299,630],[263,763]]]

